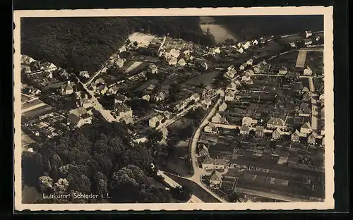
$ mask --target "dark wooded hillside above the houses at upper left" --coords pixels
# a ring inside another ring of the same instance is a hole
[[[97,71],[133,32],[213,44],[198,17],[22,18],[21,54],[73,71]]]

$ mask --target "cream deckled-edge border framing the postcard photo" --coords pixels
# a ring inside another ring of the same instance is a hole
[[[102,16],[324,16],[325,73],[325,201],[324,202],[253,202],[253,203],[162,203],[162,204],[22,204],[21,197],[21,102],[20,102],[20,18],[22,17],[102,17]],[[333,6],[251,7],[251,8],[131,8],[89,10],[14,11],[14,209],[22,211],[128,211],[128,210],[291,210],[334,208],[334,111],[333,111]]]

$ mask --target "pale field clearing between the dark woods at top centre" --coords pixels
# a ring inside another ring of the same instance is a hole
[[[225,42],[226,39],[233,39],[234,42],[237,42],[237,38],[234,37],[234,34],[223,25],[201,24],[201,29],[205,34],[209,31],[210,34],[215,37],[215,42],[217,44]]]

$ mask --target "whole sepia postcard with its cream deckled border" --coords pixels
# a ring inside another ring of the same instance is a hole
[[[15,11],[15,209],[332,209],[332,16]]]

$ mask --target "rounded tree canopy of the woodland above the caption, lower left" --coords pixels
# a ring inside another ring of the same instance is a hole
[[[23,184],[44,193],[109,193],[109,202],[170,202],[175,192],[151,183],[152,178],[158,179],[151,166],[152,150],[145,145],[132,146],[127,130],[122,123],[100,121],[47,142],[34,153],[23,152]],[[104,198],[97,200],[104,202]]]

